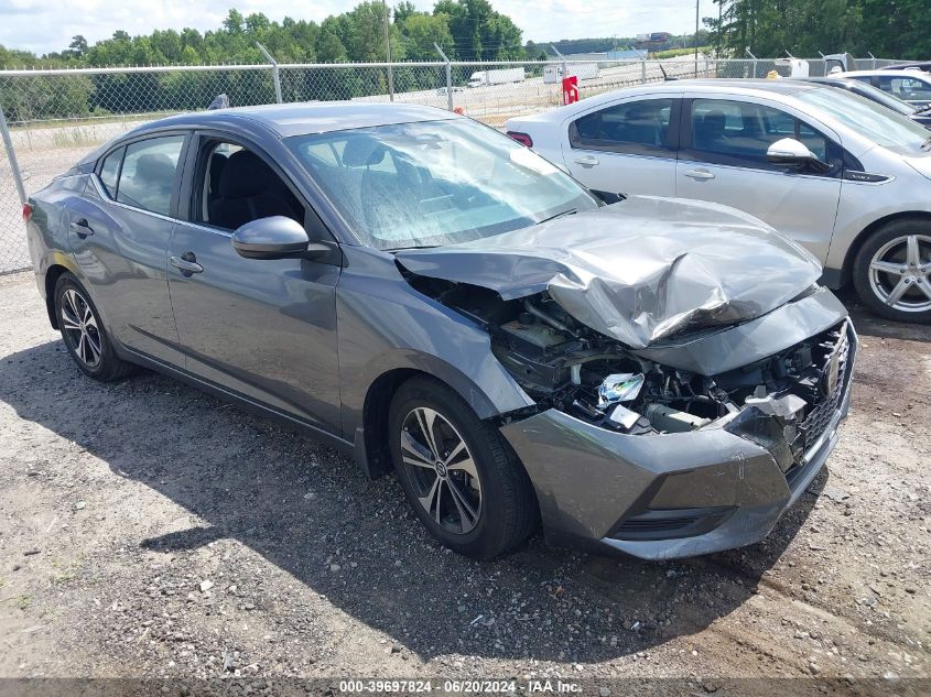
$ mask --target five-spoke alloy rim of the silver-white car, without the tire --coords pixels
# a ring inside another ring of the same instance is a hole
[[[899,312],[931,309],[931,237],[906,235],[880,247],[869,262],[869,286]]]

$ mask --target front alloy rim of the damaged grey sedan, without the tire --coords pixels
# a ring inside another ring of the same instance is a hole
[[[401,459],[418,501],[446,531],[464,535],[481,515],[481,483],[463,437],[440,412],[419,406],[401,426]]]

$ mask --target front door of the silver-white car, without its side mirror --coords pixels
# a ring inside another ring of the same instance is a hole
[[[749,213],[823,263],[841,196],[843,149],[837,135],[764,99],[685,97],[676,195]],[[801,141],[833,166],[821,174],[768,162],[767,149],[783,138]]]

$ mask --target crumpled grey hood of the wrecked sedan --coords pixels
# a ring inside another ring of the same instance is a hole
[[[630,348],[759,317],[821,275],[811,253],[753,216],[646,196],[396,259],[505,300],[549,291],[575,319]]]

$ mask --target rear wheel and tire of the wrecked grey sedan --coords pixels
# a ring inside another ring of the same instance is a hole
[[[90,294],[71,273],[55,284],[55,318],[68,353],[86,375],[110,382],[136,370],[116,355]]]

